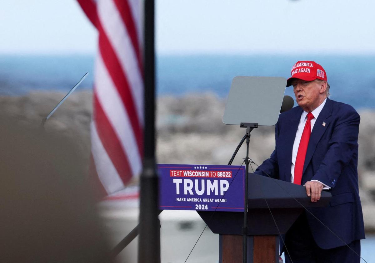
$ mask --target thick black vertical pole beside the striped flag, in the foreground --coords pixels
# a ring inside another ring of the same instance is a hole
[[[144,1],[144,159],[140,178],[138,263],[160,263],[158,177],[155,161],[154,1]]]

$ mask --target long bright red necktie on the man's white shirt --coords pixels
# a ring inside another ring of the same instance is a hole
[[[311,119],[314,118],[311,112],[307,114],[305,128],[303,128],[300,145],[297,151],[296,164],[294,165],[294,180],[293,183],[301,184],[303,165],[305,163],[306,151],[309,145],[311,135]]]

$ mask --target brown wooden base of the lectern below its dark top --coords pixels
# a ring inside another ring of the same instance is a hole
[[[278,236],[248,236],[247,244],[247,263],[279,263]],[[242,261],[242,236],[220,234],[219,263],[239,263]]]

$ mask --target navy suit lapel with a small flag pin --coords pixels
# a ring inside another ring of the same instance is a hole
[[[332,101],[327,98],[326,104],[324,105],[322,111],[320,112],[317,120],[315,121],[314,128],[311,131],[311,136],[309,140],[309,145],[306,151],[305,163],[303,165],[303,173],[306,170],[309,162],[311,161],[312,155],[315,152],[315,148],[317,147],[320,138],[322,138],[323,133],[329,126],[330,119],[329,116],[332,114]],[[324,123],[323,123],[324,122]]]

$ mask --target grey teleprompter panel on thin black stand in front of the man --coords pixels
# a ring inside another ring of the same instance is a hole
[[[247,263],[248,255],[248,188],[249,188],[249,141],[250,133],[259,125],[275,125],[278,120],[282,99],[284,97],[286,79],[281,77],[245,77],[233,79],[225,106],[223,122],[246,128],[246,134],[236,148],[228,165],[231,165],[237,151],[246,139],[245,157],[245,200],[242,227],[242,262]],[[209,226],[209,225],[208,225]],[[233,237],[230,238],[233,241]],[[233,242],[232,242],[233,243]],[[240,261],[237,261],[240,262]]]

